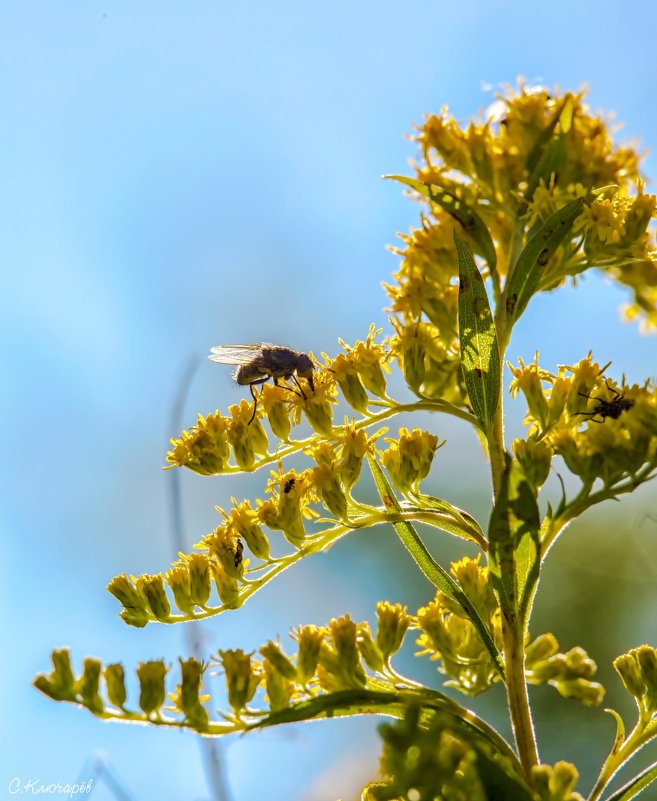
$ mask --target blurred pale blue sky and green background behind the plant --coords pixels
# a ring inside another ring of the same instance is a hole
[[[4,667],[0,797],[10,781],[96,779],[98,799],[214,799],[198,738],[103,724],[31,688],[53,647],[170,662],[182,626],[125,626],[105,585],[175,558],[162,470],[181,377],[201,364],[183,411],[245,395],[210,346],[270,340],[338,349],[385,324],[385,246],[419,207],[383,173],[408,170],[413,123],[444,104],[461,120],[491,87],[590,86],[623,139],[657,174],[657,7],[611,0],[549,4],[158,3],[24,0],[0,5],[0,296],[7,448],[2,459]],[[654,186],[649,187],[654,191]],[[532,302],[509,357],[541,351],[553,368],[589,348],[609,374],[654,378],[655,340],[620,322],[618,288],[587,276],[577,292]],[[508,380],[508,376],[507,376]],[[510,435],[521,431],[511,405]],[[400,420],[400,424],[404,424]],[[425,419],[448,444],[431,491],[488,514],[486,469],[463,426]],[[396,433],[396,425],[393,426]],[[182,475],[188,546],[218,522],[215,504],[262,494],[267,476]],[[657,644],[657,501],[650,489],[573,525],[540,589],[534,632],[584,646],[606,702],[627,714],[611,659]],[[441,563],[460,543],[432,538]],[[411,609],[431,589],[389,531],[347,538],[200,626],[206,654],[256,649],[299,623],[377,600]],[[401,668],[412,669],[413,648]],[[429,663],[421,678],[437,685]],[[217,704],[222,680],[214,682]],[[611,744],[602,710],[532,691],[545,761],[577,762],[583,792]],[[505,733],[503,695],[473,702]],[[377,721],[332,721],[219,743],[232,801],[345,801],[377,770]]]

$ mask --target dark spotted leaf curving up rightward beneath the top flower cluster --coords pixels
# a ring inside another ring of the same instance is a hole
[[[546,265],[570,233],[585,205],[590,205],[603,190],[597,189],[577,198],[555,212],[534,233],[518,257],[504,288],[504,302],[509,324],[515,323],[536,293]]]

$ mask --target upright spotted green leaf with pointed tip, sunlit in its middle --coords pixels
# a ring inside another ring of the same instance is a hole
[[[474,413],[490,431],[500,395],[500,353],[484,282],[470,249],[454,234],[459,259],[459,340],[463,379]]]

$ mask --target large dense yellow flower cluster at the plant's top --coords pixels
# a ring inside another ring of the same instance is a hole
[[[421,215],[419,228],[401,235],[402,248],[393,248],[401,265],[386,291],[400,326],[427,321],[430,339],[448,354],[458,352],[454,231],[485,254],[474,229],[451,206],[469,209],[490,234],[495,275],[489,258],[480,268],[484,279],[493,279],[497,299],[537,227],[571,201],[606,187],[584,204],[571,235],[544,265],[538,290],[597,268],[632,290],[626,316],[657,328],[657,246],[649,229],[657,199],[644,194],[636,149],[614,143],[609,121],[592,113],[584,92],[551,93],[520,83],[517,90],[507,88],[479,122],[463,128],[444,108],[425,119],[416,139],[422,158],[415,195],[429,213]]]

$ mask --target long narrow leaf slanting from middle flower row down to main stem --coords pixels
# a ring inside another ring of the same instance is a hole
[[[368,455],[367,460],[372,471],[372,476],[374,477],[374,483],[376,484],[376,488],[385,508],[389,512],[402,512],[403,508],[376,459]],[[479,613],[470,602],[468,596],[463,592],[461,585],[435,561],[426,549],[426,546],[420,539],[415,528],[408,521],[400,520],[392,525],[399,535],[399,539],[424,575],[434,587],[437,587],[444,595],[456,602],[472,621],[473,626],[477,629],[482,642],[491,655],[500,676],[504,679],[504,660],[497,650],[486,624],[479,616]]]

